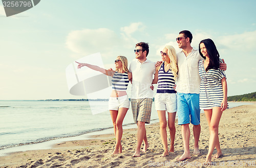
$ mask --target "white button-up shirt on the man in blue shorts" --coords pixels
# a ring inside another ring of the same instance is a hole
[[[177,53],[177,92],[199,94],[201,78],[199,76],[198,63],[201,59],[203,58],[197,49],[192,49],[187,57],[183,51]]]

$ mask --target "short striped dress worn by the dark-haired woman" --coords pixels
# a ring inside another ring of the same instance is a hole
[[[223,61],[220,59],[220,63]],[[204,69],[204,60],[199,61],[199,75],[201,77],[199,105],[200,109],[212,109],[212,107],[221,107],[223,100],[223,89],[221,79],[226,78],[224,70]]]

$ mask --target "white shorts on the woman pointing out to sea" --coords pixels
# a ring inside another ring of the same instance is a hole
[[[130,107],[130,101],[127,94],[117,98],[110,97],[109,110],[118,110],[122,107],[127,109]]]

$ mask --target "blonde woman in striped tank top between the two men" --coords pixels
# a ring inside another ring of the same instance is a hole
[[[163,143],[164,153],[162,157],[174,152],[175,139],[175,116],[177,111],[177,95],[175,81],[177,79],[178,65],[176,51],[173,46],[167,45],[161,51],[163,63],[156,67],[155,78],[153,84],[158,83],[157,94],[155,95],[155,106],[159,117],[160,134]],[[168,114],[168,127],[170,132],[170,149],[168,151],[167,132],[166,132],[166,116]]]

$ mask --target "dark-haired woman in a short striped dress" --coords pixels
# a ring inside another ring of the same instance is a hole
[[[202,40],[199,43],[199,53],[204,58],[199,61],[199,75],[201,77],[199,102],[200,109],[204,110],[209,131],[209,150],[206,162],[211,162],[211,155],[216,147],[215,158],[222,155],[219,141],[219,123],[222,112],[227,105],[227,81],[223,70],[219,68],[222,60],[217,51],[214,41]]]

